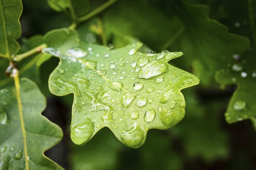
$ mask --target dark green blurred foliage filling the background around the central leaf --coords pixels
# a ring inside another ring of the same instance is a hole
[[[200,84],[181,91],[186,101],[183,120],[168,130],[149,130],[140,148],[125,146],[108,128],[78,146],[70,139],[74,96],[52,95],[48,87],[49,75],[59,59],[41,58],[42,53],[32,55],[17,63],[32,72],[20,77],[39,86],[47,97],[42,114],[64,133],[61,142],[45,153],[47,157],[64,169],[76,170],[256,167],[255,0],[117,1],[78,22],[78,35],[70,32],[66,36],[61,28],[68,28],[74,20],[67,2],[22,1],[19,54],[42,43],[67,50],[78,38],[114,49],[142,42],[140,51],[144,53],[149,49],[182,51],[184,55],[170,63],[197,75]],[[105,2],[73,0],[71,6],[79,18]],[[2,89],[13,81],[4,75],[9,62],[0,61]]]

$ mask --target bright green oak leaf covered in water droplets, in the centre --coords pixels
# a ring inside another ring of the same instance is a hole
[[[46,48],[60,58],[49,78],[58,96],[74,93],[71,139],[83,145],[108,127],[125,145],[140,147],[149,129],[167,129],[185,114],[180,92],[199,79],[168,62],[182,52],[137,52],[142,44],[109,50],[81,43],[67,51]]]

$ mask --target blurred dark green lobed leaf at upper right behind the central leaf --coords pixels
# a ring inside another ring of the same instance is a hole
[[[215,75],[219,69],[226,68],[227,63],[233,60],[234,54],[242,54],[250,45],[246,37],[231,34],[226,26],[209,19],[209,12],[207,6],[192,3],[183,18],[187,21],[186,31],[177,37],[171,46],[186,54],[186,62],[183,64],[189,68],[193,63],[197,74],[202,73],[201,83],[205,86],[212,83],[212,74]],[[194,62],[195,60],[197,62]]]

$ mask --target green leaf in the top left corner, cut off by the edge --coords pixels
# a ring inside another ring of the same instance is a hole
[[[9,60],[20,49],[15,39],[21,35],[19,19],[22,9],[21,0],[0,0],[0,54]]]

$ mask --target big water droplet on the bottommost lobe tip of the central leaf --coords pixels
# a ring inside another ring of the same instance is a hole
[[[138,148],[142,145],[144,133],[137,125],[135,122],[131,130],[121,133],[121,141],[129,147]]]

